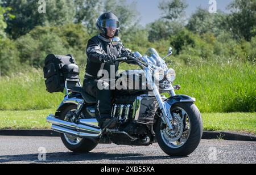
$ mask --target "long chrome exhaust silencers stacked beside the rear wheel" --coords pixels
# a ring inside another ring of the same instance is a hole
[[[71,123],[55,118],[53,115],[47,117],[47,122],[52,123],[52,130],[59,133],[71,134],[80,137],[97,138],[101,135],[101,129],[97,126],[86,125],[85,123]]]

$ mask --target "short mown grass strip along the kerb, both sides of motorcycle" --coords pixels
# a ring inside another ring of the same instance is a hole
[[[55,109],[0,111],[0,129],[50,129],[48,114]],[[204,130],[256,134],[256,113],[202,113]]]

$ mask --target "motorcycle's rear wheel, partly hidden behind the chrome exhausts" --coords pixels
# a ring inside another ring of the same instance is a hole
[[[71,121],[71,116],[76,112],[76,105],[69,105],[60,113],[60,119],[68,122]],[[90,139],[79,138],[77,136],[68,135],[68,134],[60,134],[60,138],[64,143],[65,147],[72,152],[90,152],[96,146],[97,143],[93,142]]]

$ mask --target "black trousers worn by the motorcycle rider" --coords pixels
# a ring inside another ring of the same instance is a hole
[[[104,84],[106,88],[100,90],[98,84]],[[109,83],[101,79],[84,79],[82,88],[89,93],[89,95],[96,97],[97,105],[95,113],[99,125],[101,125],[102,121],[106,118],[111,118],[113,90],[110,90]]]

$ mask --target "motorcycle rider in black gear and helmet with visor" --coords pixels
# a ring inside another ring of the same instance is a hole
[[[108,71],[115,69],[118,71],[119,63],[116,58],[120,53],[128,52],[133,55],[129,49],[123,49],[112,44],[112,39],[118,36],[120,25],[119,20],[113,12],[102,14],[96,23],[96,27],[100,30],[100,34],[92,37],[88,41],[86,54],[88,56],[85,69],[85,77],[83,89],[89,95],[96,97],[96,118],[102,129],[113,128],[117,123],[117,118],[112,118],[112,99],[113,90],[110,89],[110,83],[102,80],[102,70]],[[128,63],[134,63],[133,61]],[[112,70],[113,71],[113,70]],[[104,86],[104,89],[98,85]]]

